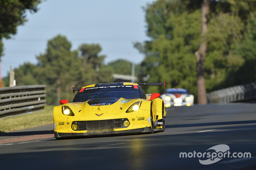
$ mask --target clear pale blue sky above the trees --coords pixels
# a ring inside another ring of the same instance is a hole
[[[82,43],[100,44],[105,64],[117,59],[140,63],[144,55],[133,47],[146,35],[145,11],[154,0],[47,0],[35,14],[27,12],[28,22],[18,27],[12,39],[3,40],[2,78],[25,62],[37,63],[47,41],[61,34],[75,50]]]

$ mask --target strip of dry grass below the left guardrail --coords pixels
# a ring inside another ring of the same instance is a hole
[[[10,132],[53,123],[53,107],[45,106],[43,111],[0,119],[0,132]]]

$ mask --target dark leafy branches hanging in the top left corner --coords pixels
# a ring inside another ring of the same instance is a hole
[[[41,0],[1,0],[0,1],[0,59],[3,56],[2,38],[9,39],[17,33],[17,26],[23,25],[26,11],[37,12]]]

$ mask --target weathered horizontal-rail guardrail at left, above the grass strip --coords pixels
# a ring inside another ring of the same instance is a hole
[[[0,88],[0,118],[43,110],[46,85]]]

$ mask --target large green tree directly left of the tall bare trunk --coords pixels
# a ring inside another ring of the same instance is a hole
[[[184,1],[187,4],[189,1]],[[172,4],[173,3],[173,4]],[[181,11],[184,11],[182,13]],[[196,61],[200,35],[200,11],[186,11],[183,2],[160,0],[148,5],[147,34],[151,41],[134,46],[146,55],[141,63],[150,82],[167,82],[167,88],[187,88],[195,92]],[[148,93],[164,90],[148,86]]]

